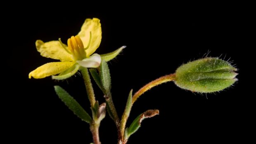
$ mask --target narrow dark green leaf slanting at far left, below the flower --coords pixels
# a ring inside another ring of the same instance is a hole
[[[59,98],[62,100],[62,102],[64,102],[66,104],[66,106],[69,107],[69,109],[71,109],[71,111],[73,111],[74,114],[76,114],[76,116],[78,116],[79,118],[81,118],[83,121],[87,122],[87,123],[91,123],[92,118],[89,116],[89,114],[80,106],[80,104],[78,104],[78,102],[76,102],[75,99],[73,99],[73,97],[71,97],[69,95],[69,93],[67,93],[62,87],[60,86],[54,86],[55,88],[55,92],[57,93],[57,95],[59,96]]]

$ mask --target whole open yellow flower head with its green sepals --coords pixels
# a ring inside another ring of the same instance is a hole
[[[28,78],[45,78],[62,80],[73,76],[80,68],[97,68],[101,60],[109,61],[115,58],[126,46],[120,47],[108,54],[93,54],[100,46],[102,38],[100,19],[86,19],[81,31],[68,39],[67,45],[59,41],[36,41],[36,49],[43,57],[59,59],[59,62],[50,62],[39,66],[28,74]],[[86,47],[85,47],[86,45]],[[53,76],[59,74],[58,76]]]

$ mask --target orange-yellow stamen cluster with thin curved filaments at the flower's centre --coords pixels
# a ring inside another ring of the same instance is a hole
[[[68,48],[66,48],[66,46],[60,40],[60,38],[59,38],[59,42],[64,48],[64,50],[66,50],[66,52],[68,52],[69,54],[72,54],[75,61],[78,61],[78,60],[83,60],[87,58],[85,50],[88,49],[90,46],[91,37],[92,37],[92,34],[90,32],[90,39],[87,47],[83,46],[83,42],[78,35],[71,36],[71,38],[68,39]]]

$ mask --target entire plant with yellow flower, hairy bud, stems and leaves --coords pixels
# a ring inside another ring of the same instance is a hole
[[[106,111],[108,111],[109,116],[116,124],[118,144],[126,144],[129,137],[139,129],[142,120],[158,115],[159,110],[147,110],[137,116],[130,125],[127,125],[134,102],[143,93],[156,85],[174,81],[182,89],[198,93],[209,93],[221,91],[237,81],[237,78],[235,78],[237,68],[227,61],[217,57],[205,57],[191,61],[177,68],[175,73],[153,80],[134,94],[133,90],[130,90],[123,115],[119,117],[111,96],[111,77],[107,61],[114,59],[126,46],[107,54],[96,54],[94,52],[99,47],[101,39],[100,20],[93,18],[85,20],[81,31],[76,36],[71,36],[67,40],[67,45],[60,38],[50,42],[37,40],[36,49],[43,57],[60,61],[39,66],[28,74],[29,78],[52,76],[52,79],[63,80],[70,78],[78,71],[81,72],[90,101],[91,116],[62,87],[55,86],[54,88],[66,106],[81,120],[89,123],[93,144],[100,144],[99,127],[100,122],[106,115]],[[91,78],[95,80],[100,90],[104,93],[106,102],[99,104],[96,100]]]

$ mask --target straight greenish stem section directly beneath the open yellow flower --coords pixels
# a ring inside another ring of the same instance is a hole
[[[95,104],[96,100],[95,100],[95,94],[94,94],[94,91],[93,91],[93,88],[92,88],[92,82],[91,82],[91,79],[90,79],[88,68],[81,67],[80,70],[81,70],[81,73],[83,75],[83,80],[84,80],[84,83],[85,83],[85,88],[86,88],[86,92],[87,92],[88,99],[90,101],[91,107],[94,107],[94,104]]]

